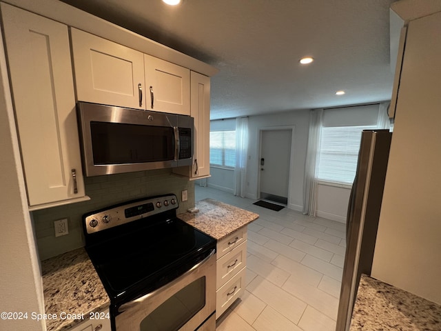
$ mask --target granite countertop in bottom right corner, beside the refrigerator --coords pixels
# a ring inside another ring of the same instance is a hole
[[[441,305],[362,274],[350,331],[441,330]]]

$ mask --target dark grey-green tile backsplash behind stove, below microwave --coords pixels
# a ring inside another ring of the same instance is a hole
[[[172,174],[172,170],[148,170],[127,174],[85,177],[85,192],[90,201],[31,212],[41,260],[84,246],[81,217],[86,212],[107,208],[110,205],[174,193],[178,197],[178,213],[194,206],[194,182]],[[188,200],[181,201],[181,191],[188,191]],[[69,233],[55,237],[54,221],[68,219]]]

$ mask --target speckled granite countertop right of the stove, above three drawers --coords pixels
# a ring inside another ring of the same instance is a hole
[[[218,241],[259,217],[254,212],[213,199],[196,201],[196,208],[198,213],[185,212],[178,217]]]

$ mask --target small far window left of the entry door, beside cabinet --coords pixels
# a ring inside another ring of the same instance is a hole
[[[225,168],[236,165],[236,131],[209,132],[209,163]]]

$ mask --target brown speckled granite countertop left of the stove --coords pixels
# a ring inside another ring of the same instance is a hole
[[[46,321],[46,330],[67,330],[89,319],[90,312],[98,312],[110,305],[84,248],[42,261],[41,268],[45,314],[57,314],[57,319]],[[66,315],[60,316],[61,313]]]

